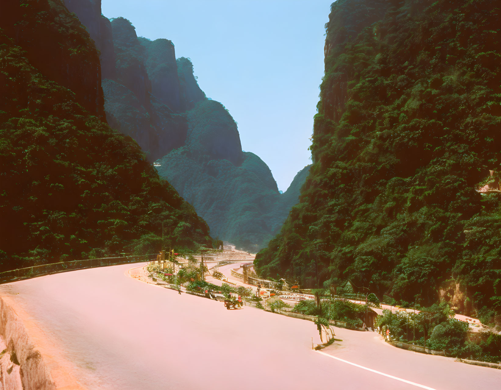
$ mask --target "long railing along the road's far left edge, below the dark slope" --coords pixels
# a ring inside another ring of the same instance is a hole
[[[15,270],[0,272],[0,284],[36,278],[38,276],[57,274],[60,272],[82,270],[86,268],[142,263],[145,261],[156,260],[157,255],[157,253],[153,253],[140,256],[102,257],[98,259],[62,261],[59,263],[39,264],[31,267],[17,268]]]

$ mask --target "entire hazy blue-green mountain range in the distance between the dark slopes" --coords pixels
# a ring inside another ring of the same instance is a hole
[[[207,221],[213,237],[246,250],[265,246],[297,203],[308,169],[279,193],[269,167],[242,152],[235,121],[205,96],[191,60],[176,59],[171,41],[138,37],[124,18],[103,22],[99,1],[65,4],[103,47],[103,67],[115,59],[103,80],[110,126],[134,138],[150,162],[161,162],[160,175]]]

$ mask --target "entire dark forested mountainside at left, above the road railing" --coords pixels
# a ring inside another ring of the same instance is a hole
[[[62,1],[0,14],[2,270],[166,245],[211,245],[208,227],[103,119],[94,42]],[[95,116],[98,115],[98,116]]]

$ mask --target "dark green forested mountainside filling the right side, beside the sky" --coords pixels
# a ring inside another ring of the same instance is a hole
[[[314,164],[262,274],[314,286],[317,260],[326,287],[498,310],[499,194],[475,190],[499,169],[496,4],[332,4]]]

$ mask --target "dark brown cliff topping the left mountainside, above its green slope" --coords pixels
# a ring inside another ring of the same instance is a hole
[[[26,58],[40,73],[74,91],[79,104],[104,117],[96,47],[85,27],[68,13],[62,1],[3,2],[0,26],[26,51]],[[65,39],[60,39],[62,35]]]

